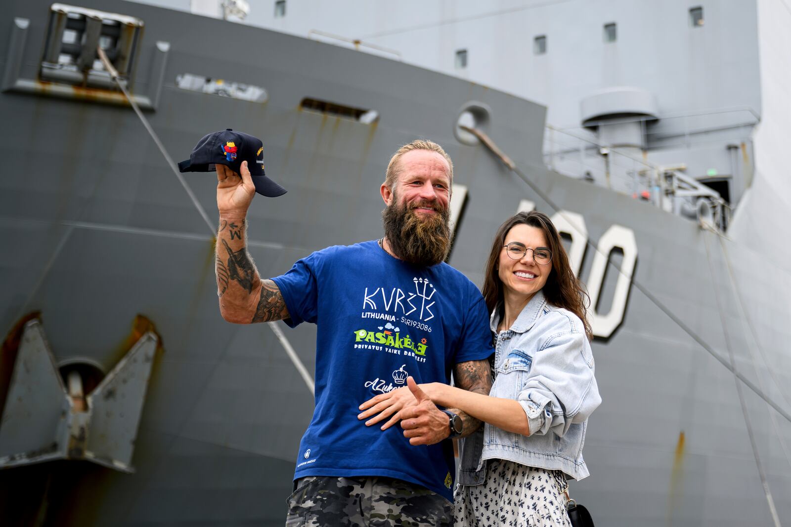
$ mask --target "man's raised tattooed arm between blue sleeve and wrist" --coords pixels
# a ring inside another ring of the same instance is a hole
[[[278,286],[272,280],[261,280],[255,269],[245,247],[245,228],[244,219],[220,221],[214,269],[222,318],[236,324],[289,318]]]

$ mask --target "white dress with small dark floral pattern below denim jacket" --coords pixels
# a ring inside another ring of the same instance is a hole
[[[502,459],[486,463],[483,484],[456,487],[457,526],[571,527],[563,472]]]

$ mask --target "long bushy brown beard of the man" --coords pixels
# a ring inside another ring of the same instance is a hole
[[[439,203],[420,201],[412,205],[392,205],[382,211],[384,235],[393,254],[414,265],[429,266],[444,262],[450,250],[450,212]],[[436,213],[416,213],[425,207]]]

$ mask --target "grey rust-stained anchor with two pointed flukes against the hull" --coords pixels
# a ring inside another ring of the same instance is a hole
[[[155,333],[143,334],[83,398],[77,378],[69,378],[66,390],[40,321],[28,322],[0,422],[0,469],[84,459],[134,472],[134,439],[157,342]]]

